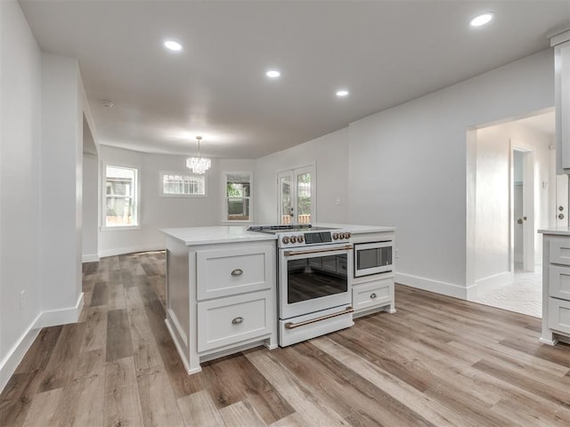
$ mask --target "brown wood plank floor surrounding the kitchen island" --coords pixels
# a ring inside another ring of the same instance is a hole
[[[570,346],[538,318],[396,286],[395,314],[186,375],[164,253],[84,264],[77,324],[44,328],[0,395],[8,426],[570,425]]]

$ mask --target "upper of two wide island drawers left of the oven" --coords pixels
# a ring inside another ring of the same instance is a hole
[[[198,301],[270,288],[274,256],[268,246],[197,252]]]

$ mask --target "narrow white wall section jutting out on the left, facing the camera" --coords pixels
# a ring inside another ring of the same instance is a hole
[[[45,326],[76,321],[82,304],[81,86],[77,60],[42,53],[40,274]]]

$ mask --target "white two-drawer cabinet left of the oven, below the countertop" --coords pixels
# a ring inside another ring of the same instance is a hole
[[[167,238],[167,327],[189,374],[199,363],[277,347],[273,240],[185,246]]]

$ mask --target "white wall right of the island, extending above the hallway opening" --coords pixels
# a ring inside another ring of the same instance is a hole
[[[551,107],[553,72],[549,49],[350,125],[349,222],[398,228],[398,282],[467,297],[468,128]]]

